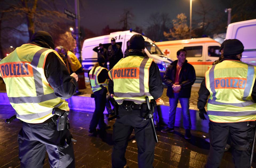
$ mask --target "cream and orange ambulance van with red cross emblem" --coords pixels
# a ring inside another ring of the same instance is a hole
[[[208,66],[220,56],[220,43],[208,37],[156,42],[155,44],[173,60],[177,59],[179,49],[185,49],[187,61],[194,66],[197,77],[204,77]]]

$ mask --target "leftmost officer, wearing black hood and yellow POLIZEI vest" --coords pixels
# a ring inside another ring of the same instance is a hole
[[[9,101],[22,121],[21,167],[43,167],[45,151],[51,167],[75,167],[72,135],[67,129],[57,131],[52,111],[69,111],[65,99],[75,93],[78,77],[69,75],[53,48],[51,35],[37,31],[29,44],[17,47],[0,62]]]

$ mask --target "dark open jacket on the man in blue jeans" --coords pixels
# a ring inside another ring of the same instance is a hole
[[[163,76],[163,82],[168,86],[167,88],[167,96],[169,98],[173,98],[173,88],[172,85],[175,81],[176,75],[176,66],[178,60],[171,63],[170,66],[167,67],[165,71],[165,75]],[[179,98],[189,98],[191,95],[191,87],[195,82],[195,69],[194,67],[187,63],[187,60],[181,67],[181,71],[179,73],[179,85],[181,85],[181,90],[179,91]]]

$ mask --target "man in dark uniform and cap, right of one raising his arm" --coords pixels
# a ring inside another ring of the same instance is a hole
[[[115,64],[123,58],[123,51],[121,47],[115,43],[115,39],[111,38],[111,46],[109,46],[108,51],[109,60],[109,70],[112,69]]]

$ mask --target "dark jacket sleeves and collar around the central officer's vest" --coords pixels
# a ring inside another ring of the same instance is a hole
[[[129,50],[127,57],[142,56],[144,54],[139,50]],[[114,83],[109,80],[109,93],[114,94]],[[149,93],[154,99],[158,99],[163,94],[163,83],[157,64],[153,61],[149,67]]]

